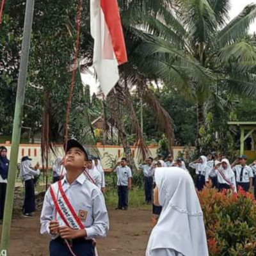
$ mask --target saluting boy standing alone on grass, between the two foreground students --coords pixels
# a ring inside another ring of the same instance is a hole
[[[120,164],[120,166],[118,166]],[[132,186],[132,171],[127,166],[127,159],[123,157],[120,163],[117,163],[113,168],[117,175],[117,189],[118,189],[118,205],[116,210],[128,209],[129,204],[129,190]]]

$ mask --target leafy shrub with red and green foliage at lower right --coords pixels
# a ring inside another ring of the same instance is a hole
[[[211,256],[256,255],[256,202],[242,189],[237,194],[205,188],[198,193],[204,211]]]

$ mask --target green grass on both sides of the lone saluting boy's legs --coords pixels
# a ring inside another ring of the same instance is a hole
[[[116,189],[111,189],[105,193],[106,204],[116,207],[118,196]],[[152,205],[145,204],[145,195],[142,189],[132,189],[129,191],[129,207],[150,210]]]

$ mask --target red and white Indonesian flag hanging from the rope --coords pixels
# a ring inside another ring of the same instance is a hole
[[[104,95],[119,80],[118,65],[127,62],[117,0],[90,0],[93,66]]]

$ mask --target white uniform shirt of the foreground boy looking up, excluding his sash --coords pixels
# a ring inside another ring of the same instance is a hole
[[[67,177],[65,176],[63,180],[61,180],[61,184],[63,186],[63,191],[77,216],[79,217],[79,212],[83,212],[83,216],[84,213],[86,214],[86,218],[80,218],[85,227],[84,229],[86,230],[86,239],[106,237],[109,229],[109,218],[104,196],[100,189],[86,179],[84,173],[82,173],[72,184],[68,184]],[[51,186],[58,190],[58,182]],[[40,218],[41,234],[50,234],[50,221],[58,221],[60,226],[66,226],[58,212],[56,214],[49,188],[45,194]],[[55,239],[56,237],[58,236],[52,236],[52,239]]]

